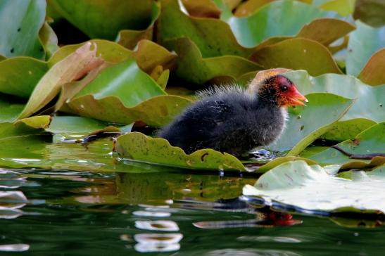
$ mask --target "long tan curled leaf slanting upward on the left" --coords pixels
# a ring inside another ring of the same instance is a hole
[[[79,79],[93,68],[101,65],[103,60],[95,55],[96,46],[94,50],[90,50],[90,47],[91,43],[84,44],[75,53],[56,63],[40,79],[18,118],[22,119],[36,113],[58,94],[63,84]]]

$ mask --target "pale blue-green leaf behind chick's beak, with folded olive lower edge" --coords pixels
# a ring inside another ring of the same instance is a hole
[[[310,77],[307,72],[294,71],[285,73],[285,76],[289,77],[303,94],[328,92],[355,99],[353,106],[328,132],[329,139],[353,139],[375,122],[385,120],[385,86],[371,87],[350,75],[326,74]]]

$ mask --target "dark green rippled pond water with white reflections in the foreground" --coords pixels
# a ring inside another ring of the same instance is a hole
[[[99,162],[82,154],[96,145],[2,158],[61,169],[0,169],[0,254],[383,255],[378,220],[257,211],[238,199],[255,176],[116,162],[108,146]]]

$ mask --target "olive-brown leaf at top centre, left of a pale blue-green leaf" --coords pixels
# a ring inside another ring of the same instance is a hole
[[[171,39],[188,37],[198,46],[203,58],[224,55],[247,57],[253,51],[241,46],[229,25],[222,20],[190,17],[182,13],[177,0],[163,0],[161,6],[157,41],[162,45]]]

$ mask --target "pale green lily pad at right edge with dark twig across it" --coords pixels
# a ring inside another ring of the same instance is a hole
[[[355,155],[367,155],[371,153],[385,153],[385,122],[374,124],[369,129],[358,134],[354,140],[343,141],[336,146],[342,148],[344,151]],[[346,167],[365,167],[370,164],[370,160],[358,160],[349,158],[335,148],[328,148],[325,151],[317,153],[310,157],[321,165],[339,164],[345,165],[351,163]],[[355,162],[355,166],[352,163]],[[361,162],[361,164],[360,164]],[[385,163],[385,157],[378,158],[377,164]],[[362,166],[362,163],[365,165]]]

